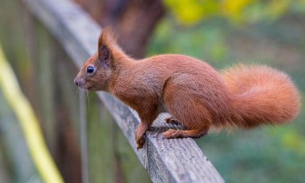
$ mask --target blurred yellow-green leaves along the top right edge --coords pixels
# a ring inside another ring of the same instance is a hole
[[[304,0],[165,0],[167,8],[183,25],[221,16],[232,23],[275,20],[286,12],[305,12]]]

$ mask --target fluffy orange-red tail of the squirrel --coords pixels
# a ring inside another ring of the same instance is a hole
[[[239,64],[221,72],[232,93],[239,127],[283,124],[300,111],[300,94],[289,75],[269,66]]]

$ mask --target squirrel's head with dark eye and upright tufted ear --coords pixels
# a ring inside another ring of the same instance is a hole
[[[74,79],[74,84],[86,90],[108,90],[113,70],[112,50],[117,45],[110,27],[103,29],[99,36],[97,53],[88,58]]]

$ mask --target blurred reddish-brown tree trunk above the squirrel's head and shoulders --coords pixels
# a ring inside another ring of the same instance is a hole
[[[74,0],[101,25],[111,25],[119,45],[133,58],[143,58],[149,36],[164,15],[161,0]]]

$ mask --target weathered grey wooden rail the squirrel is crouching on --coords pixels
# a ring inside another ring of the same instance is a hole
[[[23,0],[27,8],[60,41],[80,67],[95,53],[101,27],[68,0]],[[76,73],[75,73],[76,74]],[[164,123],[160,114],[147,132],[143,149],[136,150],[134,130],[139,123],[134,110],[108,93],[97,93],[121,128],[153,182],[224,182],[192,138],[163,139],[162,132],[180,126]]]

